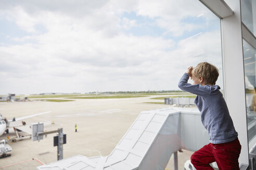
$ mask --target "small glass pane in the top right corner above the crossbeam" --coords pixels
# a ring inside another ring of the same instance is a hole
[[[241,0],[242,22],[256,35],[256,1]]]

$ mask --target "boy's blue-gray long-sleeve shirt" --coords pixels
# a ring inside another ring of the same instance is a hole
[[[196,94],[195,104],[201,112],[201,121],[210,136],[210,143],[222,144],[235,140],[238,136],[220,87],[188,83],[189,76],[185,73],[178,87],[181,90]]]

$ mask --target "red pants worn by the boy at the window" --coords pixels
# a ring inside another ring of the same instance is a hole
[[[191,155],[191,163],[197,170],[213,169],[209,163],[216,162],[220,170],[239,170],[238,158],[241,145],[238,138],[224,144],[208,144]]]

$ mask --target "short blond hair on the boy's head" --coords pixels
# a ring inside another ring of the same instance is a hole
[[[198,63],[193,71],[197,78],[203,78],[205,84],[215,85],[219,77],[219,70],[217,67],[207,62]]]

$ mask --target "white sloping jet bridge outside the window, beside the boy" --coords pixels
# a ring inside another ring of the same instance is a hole
[[[108,156],[75,155],[37,169],[163,170],[172,153],[180,149],[195,151],[208,143],[197,109],[143,111]]]

